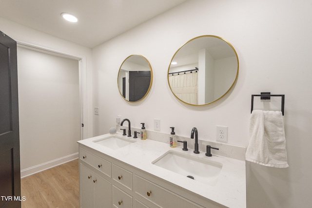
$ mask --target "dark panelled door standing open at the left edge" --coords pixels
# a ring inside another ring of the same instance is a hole
[[[20,207],[16,41],[0,31],[0,208]]]

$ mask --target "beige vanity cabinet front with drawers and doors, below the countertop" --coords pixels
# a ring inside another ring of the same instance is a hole
[[[80,144],[79,173],[81,208],[218,207],[153,174]]]

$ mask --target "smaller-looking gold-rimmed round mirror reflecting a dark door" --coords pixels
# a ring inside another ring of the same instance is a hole
[[[117,78],[119,93],[129,102],[140,101],[150,91],[152,80],[150,62],[141,55],[131,55],[119,68]]]

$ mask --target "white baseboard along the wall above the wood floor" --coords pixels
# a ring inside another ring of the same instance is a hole
[[[77,158],[78,158],[78,152],[64,156],[64,157],[61,157],[61,158],[58,158],[58,159],[55,159],[55,160],[51,160],[51,161],[46,162],[46,163],[39,164],[37,166],[33,166],[30,168],[20,170],[20,178],[35,174],[37,172],[41,172],[42,170],[47,170],[47,169],[53,168],[55,166],[58,166],[58,165],[63,164],[63,163],[67,163],[67,162],[69,162],[71,160],[75,160]]]

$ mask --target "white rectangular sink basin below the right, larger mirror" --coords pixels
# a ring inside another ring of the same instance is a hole
[[[167,151],[152,164],[184,175],[186,180],[194,179],[211,186],[216,184],[222,169],[222,163],[176,151]]]

